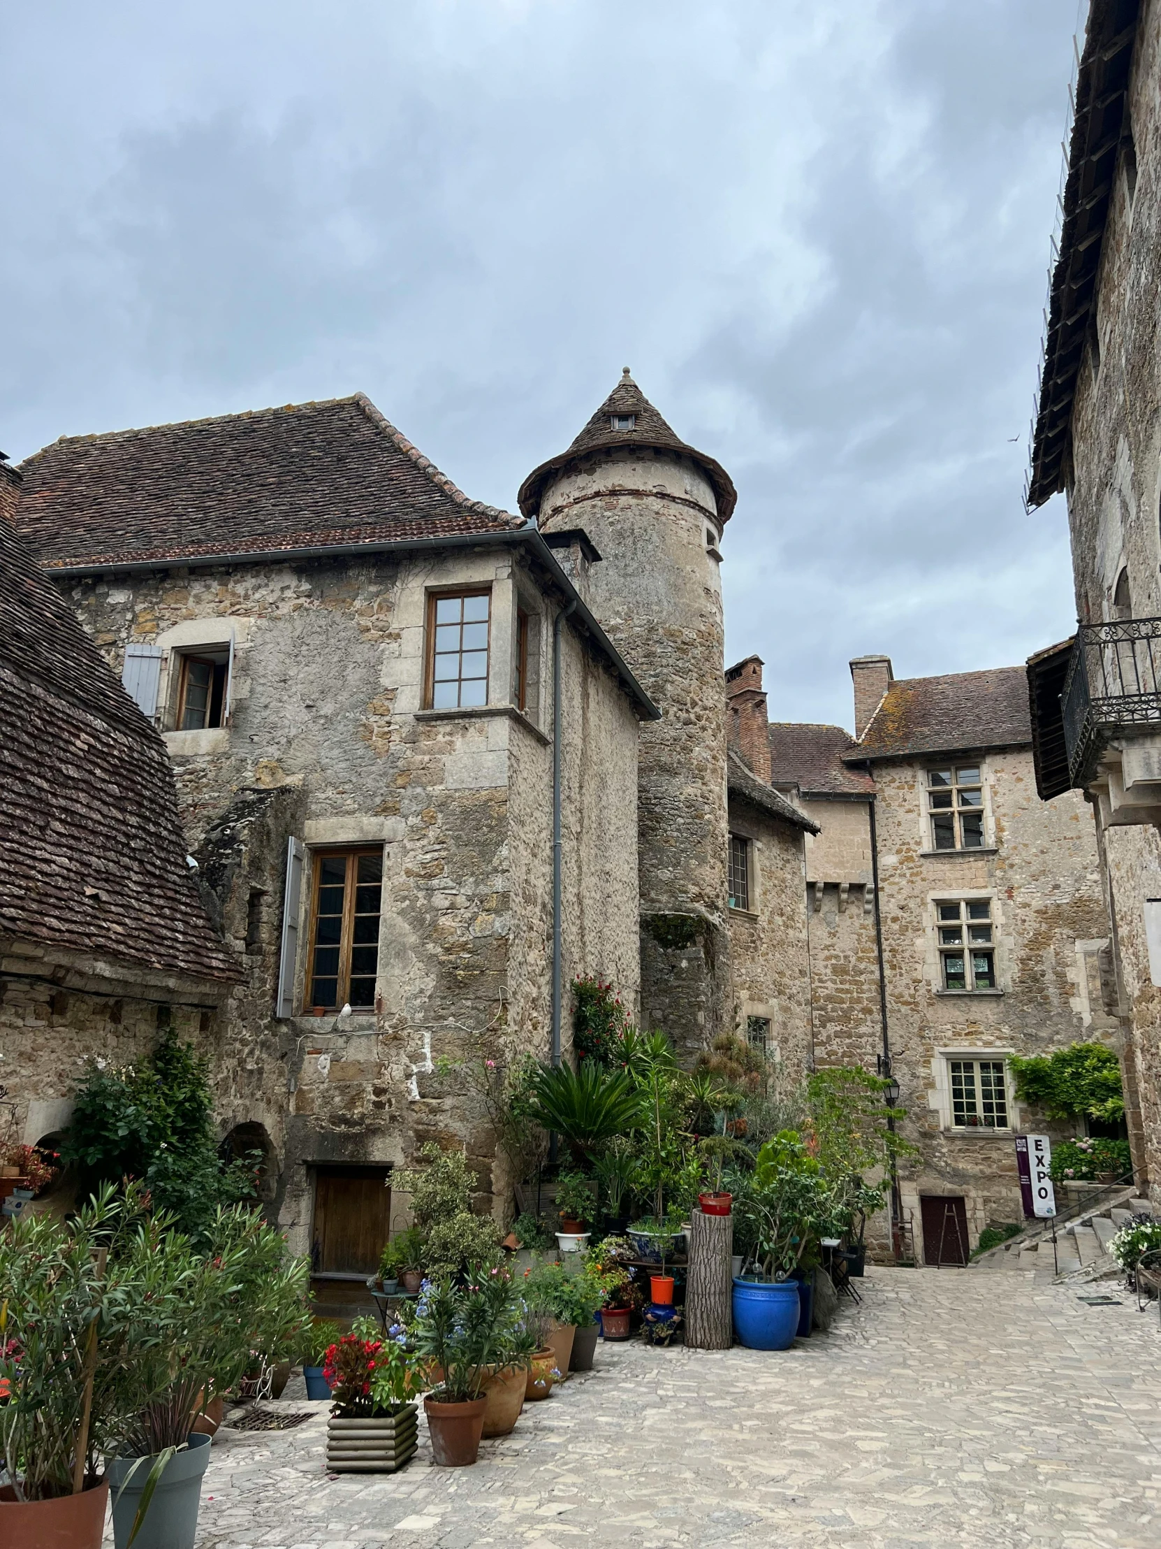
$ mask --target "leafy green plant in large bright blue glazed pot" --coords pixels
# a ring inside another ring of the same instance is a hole
[[[755,1233],[757,1273],[734,1279],[734,1327],[748,1349],[788,1349],[802,1314],[793,1278],[819,1221],[833,1210],[817,1160],[783,1129],[757,1154],[743,1208]]]

